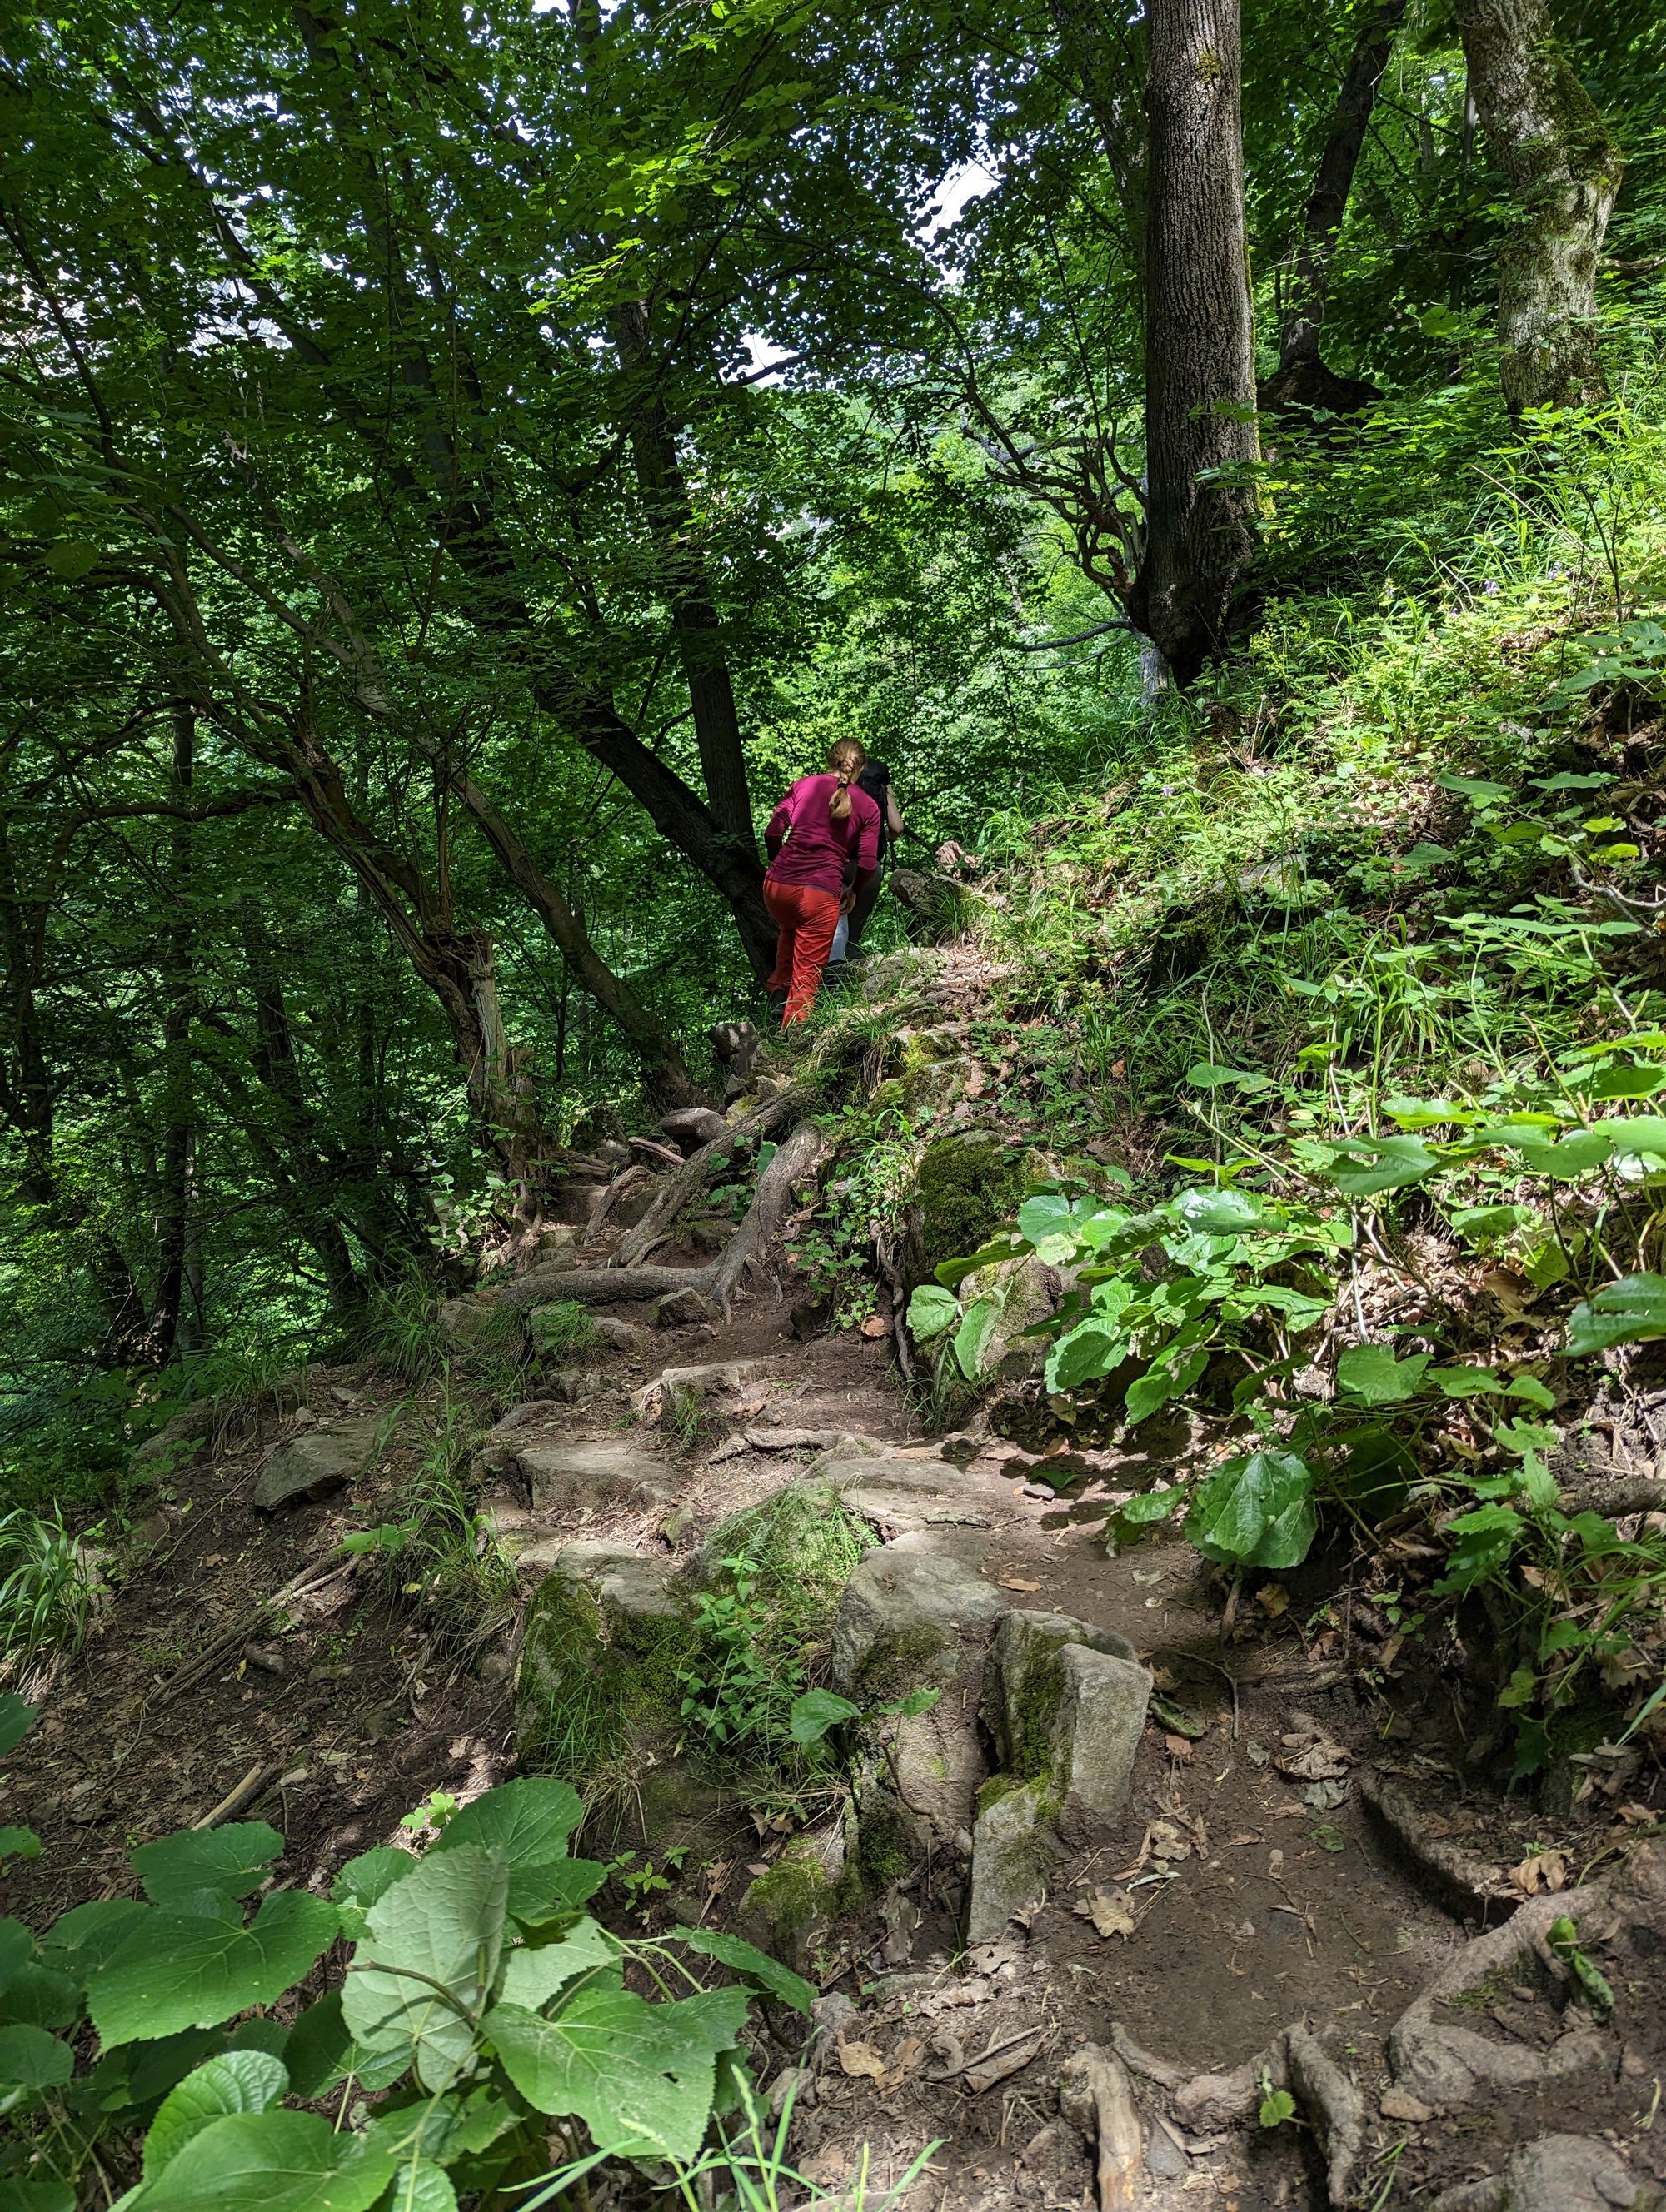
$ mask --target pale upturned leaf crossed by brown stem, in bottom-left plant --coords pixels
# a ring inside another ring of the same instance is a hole
[[[473,2048],[507,1918],[504,1854],[478,1843],[436,1845],[369,1911],[341,1993],[354,2042],[407,2053],[425,2088],[445,2088]]]

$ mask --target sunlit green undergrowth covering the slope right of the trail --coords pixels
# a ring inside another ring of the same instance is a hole
[[[1666,1663],[1666,1540],[1586,1495],[1582,1436],[1666,1338],[1666,469],[1637,418],[1569,451],[1580,513],[1485,458],[1460,573],[1270,606],[1104,785],[991,823],[951,1037],[903,975],[814,1044],[861,1075],[821,1232],[909,1261],[931,1402],[1168,1420],[1115,1540],[1325,1562],[1485,1677],[1518,1774],[1648,1741]]]

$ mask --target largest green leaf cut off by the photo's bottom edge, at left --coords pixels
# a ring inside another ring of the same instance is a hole
[[[192,2135],[124,2212],[369,2212],[392,2172],[387,2152],[316,2112],[232,2112]]]

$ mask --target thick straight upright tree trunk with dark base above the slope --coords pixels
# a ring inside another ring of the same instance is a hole
[[[1128,613],[1186,688],[1254,553],[1237,0],[1153,0],[1146,119],[1146,546]]]

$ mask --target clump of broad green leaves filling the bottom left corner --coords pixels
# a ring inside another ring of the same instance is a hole
[[[808,2011],[810,1984],[710,1929],[600,1927],[566,1783],[427,1812],[423,1856],[365,1851],[330,1898],[272,1887],[283,1840],[252,1820],[135,1849],[142,1900],[40,1940],[0,1920],[0,2203],[75,2212],[95,2170],[122,2212],[531,2212],[617,2157],[693,2208],[768,2163],[741,2031],[754,1993]],[[336,1942],[345,1973],[294,2013]],[[704,1989],[690,1953],[741,1984]]]

